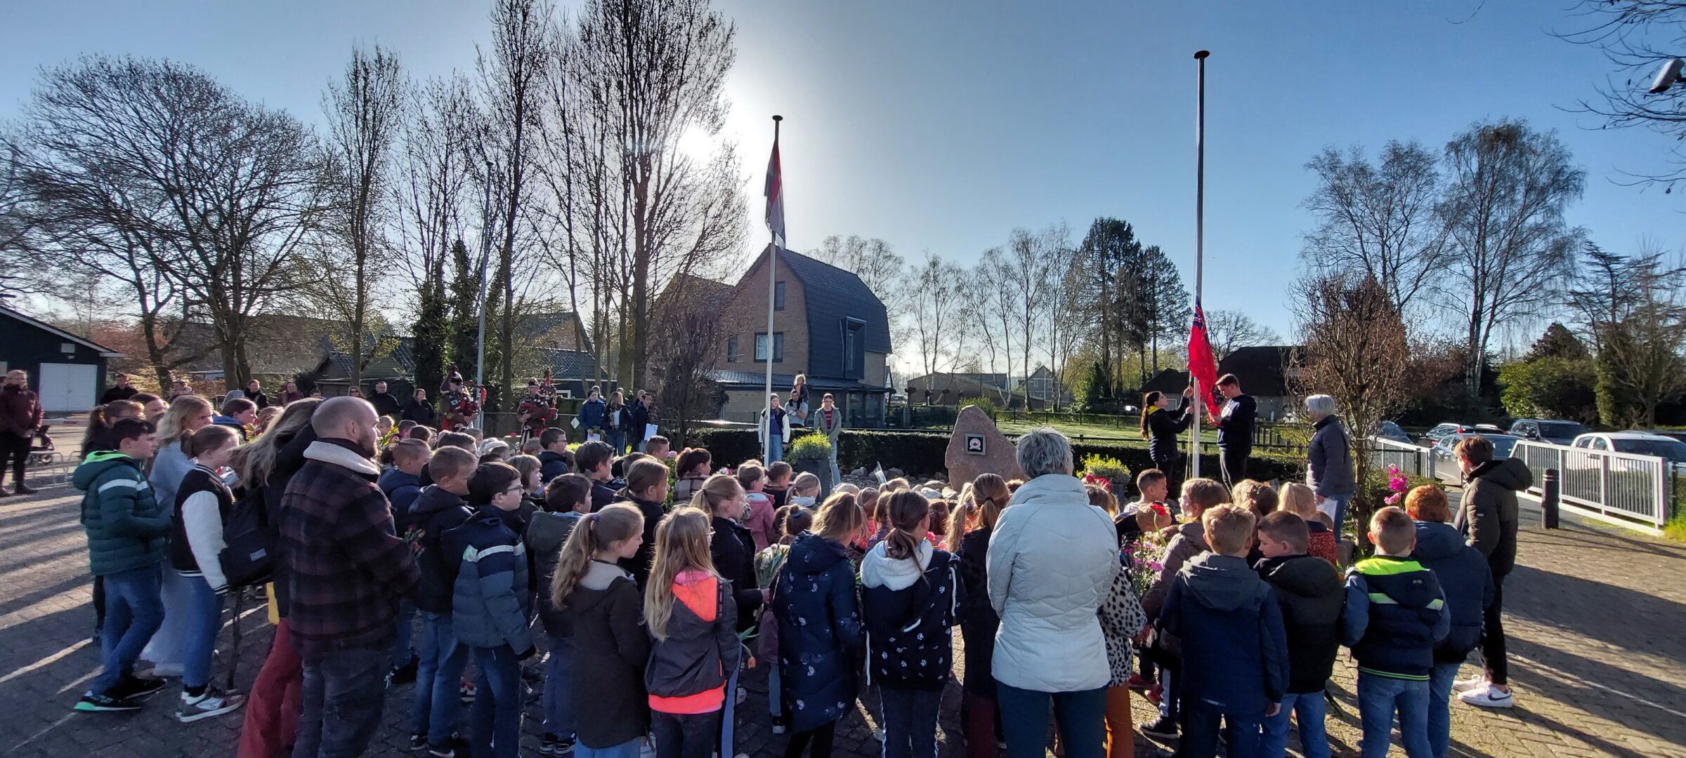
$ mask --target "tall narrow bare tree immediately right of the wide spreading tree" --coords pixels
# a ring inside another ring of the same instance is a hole
[[[309,256],[314,276],[303,291],[346,332],[336,339],[351,354],[351,384],[362,382],[368,360],[389,352],[393,339],[371,328],[383,320],[373,298],[393,259],[386,227],[393,211],[395,153],[403,130],[408,83],[398,57],[379,45],[354,47],[344,79],[322,94],[327,120],[329,175],[334,211],[325,236]],[[384,323],[383,323],[384,325]],[[366,342],[374,335],[374,342]],[[381,342],[386,342],[381,350]]]

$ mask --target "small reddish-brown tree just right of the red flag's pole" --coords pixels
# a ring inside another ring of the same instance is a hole
[[[1413,396],[1404,320],[1388,290],[1367,275],[1300,281],[1295,313],[1305,342],[1297,355],[1298,381],[1307,392],[1334,396],[1340,408],[1359,482],[1354,522],[1369,524],[1381,505],[1364,485],[1372,468],[1369,430]]]

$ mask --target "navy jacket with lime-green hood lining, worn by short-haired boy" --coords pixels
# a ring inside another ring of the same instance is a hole
[[[1426,682],[1435,643],[1452,628],[1440,581],[1409,558],[1376,556],[1347,569],[1340,637],[1359,670]]]

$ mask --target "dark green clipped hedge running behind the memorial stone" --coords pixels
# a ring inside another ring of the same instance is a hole
[[[713,453],[715,467],[737,467],[738,463],[760,458],[760,441],[754,430],[696,430],[691,433],[691,445],[708,448]],[[845,472],[855,468],[872,470],[882,463],[883,468],[900,468],[907,473],[939,473],[948,470],[944,455],[948,453],[949,435],[942,431],[885,431],[885,430],[843,430],[838,436],[838,467]],[[1072,458],[1081,462],[1089,455],[1118,458],[1135,478],[1136,472],[1152,468],[1146,443],[1120,441],[1072,441]],[[1200,472],[1217,473],[1217,455],[1200,456]],[[1305,478],[1305,460],[1298,456],[1254,453],[1248,460],[1248,477],[1259,480],[1293,480]],[[1125,487],[1135,494],[1135,485]]]

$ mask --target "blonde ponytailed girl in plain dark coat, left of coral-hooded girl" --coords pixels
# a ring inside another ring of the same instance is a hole
[[[642,542],[644,515],[612,504],[580,519],[556,561],[550,598],[568,625],[573,670],[550,674],[566,679],[563,689],[577,718],[573,753],[580,758],[637,758],[637,743],[649,731],[649,635],[637,583],[617,564]]]

